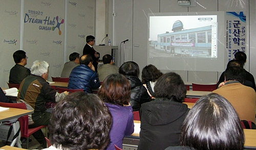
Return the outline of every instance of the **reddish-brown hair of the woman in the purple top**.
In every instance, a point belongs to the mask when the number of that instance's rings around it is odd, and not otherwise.
[[[131,96],[130,82],[122,74],[111,74],[102,82],[98,95],[105,103],[128,105]]]

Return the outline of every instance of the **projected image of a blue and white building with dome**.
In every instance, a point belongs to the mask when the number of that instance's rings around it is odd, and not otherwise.
[[[149,58],[217,58],[217,15],[150,16]]]

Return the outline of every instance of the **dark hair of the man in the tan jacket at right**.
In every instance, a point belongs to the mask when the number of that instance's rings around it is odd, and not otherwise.
[[[246,78],[246,72],[241,67],[227,67],[224,76],[226,81],[236,80],[243,84]]]

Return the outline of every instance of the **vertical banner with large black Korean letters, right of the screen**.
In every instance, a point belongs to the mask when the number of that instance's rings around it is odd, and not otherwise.
[[[246,16],[244,12],[226,12],[226,50],[228,61],[237,52],[246,53]]]

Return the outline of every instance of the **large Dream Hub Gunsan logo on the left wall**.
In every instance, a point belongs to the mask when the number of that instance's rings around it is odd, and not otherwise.
[[[47,26],[39,26],[38,29],[39,30],[45,30],[45,31],[54,31],[56,28],[58,28],[59,32],[58,34],[61,35],[61,31],[60,31],[60,24],[64,23],[64,19],[61,19],[61,21],[58,21],[58,16],[53,17],[53,19],[51,20],[50,17],[46,16],[45,19],[37,19],[37,18],[32,18],[30,17],[27,13],[25,14],[25,18],[24,18],[24,23],[35,23],[35,24],[44,24]],[[56,21],[55,21],[56,20]],[[55,23],[57,22],[56,26],[54,27]],[[49,26],[53,26],[53,27],[49,27]]]

